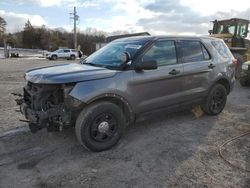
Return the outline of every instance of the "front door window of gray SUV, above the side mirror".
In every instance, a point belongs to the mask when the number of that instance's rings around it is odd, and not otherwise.
[[[158,65],[177,63],[174,41],[156,41],[144,54],[143,61],[155,60]]]

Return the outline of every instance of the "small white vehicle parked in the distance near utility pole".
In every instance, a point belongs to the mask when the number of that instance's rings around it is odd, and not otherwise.
[[[78,57],[78,52],[75,49],[58,49],[47,54],[47,59],[57,60],[58,58],[65,58],[68,60],[75,60]]]

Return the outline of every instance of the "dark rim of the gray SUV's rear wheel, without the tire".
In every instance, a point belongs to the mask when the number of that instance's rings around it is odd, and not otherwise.
[[[222,91],[216,90],[213,94],[211,101],[211,110],[213,112],[219,112],[223,109],[225,104],[225,95]]]

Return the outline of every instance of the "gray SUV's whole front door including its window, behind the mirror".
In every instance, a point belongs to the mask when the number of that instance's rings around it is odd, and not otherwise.
[[[134,72],[129,89],[134,93],[137,113],[178,105],[182,98],[183,66],[177,60],[175,41],[157,40],[139,59],[155,60],[158,68]]]

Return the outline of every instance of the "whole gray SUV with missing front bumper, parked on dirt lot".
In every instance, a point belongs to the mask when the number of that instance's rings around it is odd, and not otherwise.
[[[220,39],[130,37],[79,64],[33,69],[18,103],[31,132],[75,126],[92,151],[114,146],[126,125],[153,112],[200,105],[219,114],[233,89],[234,58]]]

